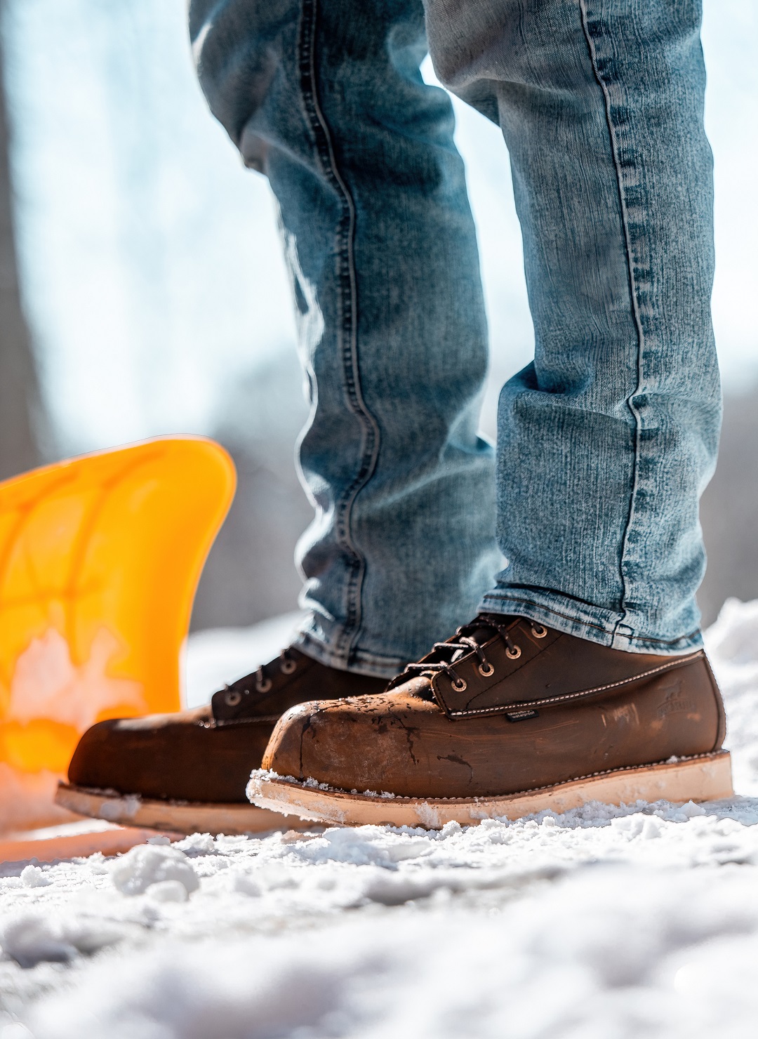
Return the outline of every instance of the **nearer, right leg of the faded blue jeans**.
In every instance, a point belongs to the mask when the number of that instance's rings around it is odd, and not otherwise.
[[[485,596],[602,645],[700,644],[721,392],[700,0],[427,0],[440,79],[499,123],[534,364],[503,389]]]

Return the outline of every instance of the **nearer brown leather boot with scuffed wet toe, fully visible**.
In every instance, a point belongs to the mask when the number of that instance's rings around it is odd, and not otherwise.
[[[431,828],[591,800],[707,800],[732,793],[724,735],[701,649],[622,652],[488,614],[383,693],[288,711],[247,793],[312,820]]]

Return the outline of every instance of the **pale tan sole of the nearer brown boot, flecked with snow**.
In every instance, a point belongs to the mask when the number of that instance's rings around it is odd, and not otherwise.
[[[658,765],[617,769],[521,794],[477,799],[373,797],[324,791],[253,772],[247,796],[262,808],[297,812],[302,819],[343,826],[476,825],[483,819],[520,819],[538,811],[568,811],[588,801],[634,804],[635,801],[715,801],[732,797],[728,751],[679,758]]]

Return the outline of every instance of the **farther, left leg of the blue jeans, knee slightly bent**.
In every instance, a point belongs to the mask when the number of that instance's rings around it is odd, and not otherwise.
[[[422,0],[192,0],[190,34],[211,109],[281,214],[317,511],[301,646],[390,676],[502,565],[476,235],[450,101],[418,71]]]

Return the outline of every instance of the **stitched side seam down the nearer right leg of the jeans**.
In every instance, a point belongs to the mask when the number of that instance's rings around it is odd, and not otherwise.
[[[637,387],[634,392],[630,394],[626,399],[626,405],[629,408],[633,419],[634,419],[634,468],[631,483],[631,496],[629,501],[629,512],[626,520],[626,527],[624,528],[624,537],[621,548],[621,559],[619,560],[619,577],[622,583],[622,601],[621,610],[623,611],[622,616],[616,622],[614,631],[611,633],[614,637],[618,634],[618,629],[620,624],[624,622],[628,615],[627,603],[629,601],[630,589],[629,582],[627,579],[626,570],[624,567],[624,560],[627,556],[628,543],[629,543],[629,533],[633,526],[635,520],[635,501],[638,497],[638,490],[640,486],[640,456],[642,451],[642,417],[634,404],[634,398],[641,393],[643,389],[643,351],[645,345],[645,330],[643,328],[642,317],[640,315],[640,302],[638,298],[638,286],[637,278],[634,276],[634,264],[631,248],[631,236],[629,233],[629,218],[628,211],[626,208],[626,196],[624,193],[624,183],[623,176],[621,172],[621,162],[619,159],[619,143],[616,135],[616,128],[614,126],[613,114],[612,114],[612,104],[611,104],[611,94],[605,85],[602,76],[600,75],[600,70],[597,63],[597,51],[595,49],[592,35],[590,33],[589,27],[589,15],[587,10],[587,0],[579,0],[579,10],[581,12],[581,29],[585,34],[585,39],[587,41],[587,47],[590,53],[590,62],[592,64],[592,72],[595,77],[597,85],[602,91],[604,106],[605,106],[605,125],[608,131],[608,139],[611,142],[611,154],[614,160],[614,169],[616,170],[616,185],[619,192],[619,206],[621,208],[621,227],[624,235],[624,250],[626,252],[626,265],[627,273],[629,278],[629,296],[631,299],[631,313],[632,319],[634,321],[634,328],[637,330]],[[633,637],[633,636],[632,636]]]

